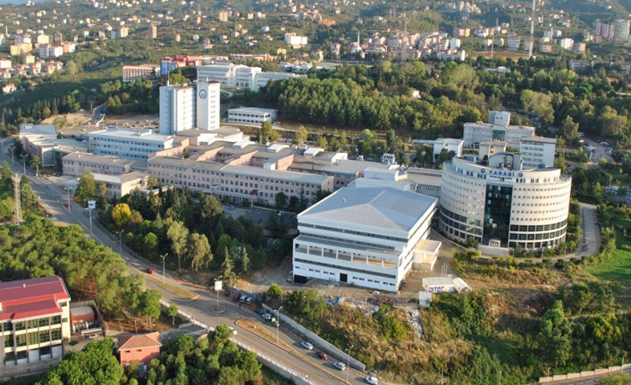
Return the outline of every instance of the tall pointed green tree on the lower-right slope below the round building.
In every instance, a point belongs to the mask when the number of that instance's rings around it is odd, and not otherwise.
[[[572,327],[565,318],[563,302],[557,300],[542,317],[538,340],[543,361],[553,367],[567,364],[572,356],[571,335]]]

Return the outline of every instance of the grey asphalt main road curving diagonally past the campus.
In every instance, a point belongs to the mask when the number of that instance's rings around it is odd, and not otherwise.
[[[4,148],[4,143],[2,144]],[[22,172],[22,165],[17,160],[12,162],[11,156],[6,155],[6,151],[2,151],[0,160],[7,160],[11,165],[13,172]],[[87,236],[97,240],[107,247],[111,247],[113,250],[119,250],[119,241],[115,239],[109,233],[105,233],[96,224],[92,226],[93,233],[90,235],[89,217],[87,210],[78,205],[71,199],[71,209],[68,210],[64,204],[66,203],[66,192],[63,188],[55,186],[49,180],[45,178],[36,178],[32,172],[27,170],[29,180],[31,180],[32,188],[35,194],[39,197],[39,203],[46,207],[46,210],[53,215],[58,222],[75,223],[79,224],[86,232]],[[153,267],[156,272],[162,272],[162,266],[154,264],[148,264],[146,261],[142,261],[130,255],[127,250],[122,248],[122,257],[126,260],[130,267],[130,273],[144,274],[147,267]],[[158,275],[159,277],[159,275]],[[165,280],[168,283],[178,286],[186,286],[187,289],[196,292],[199,297],[194,300],[182,300],[178,297],[174,297],[170,292],[156,286],[154,283],[147,280],[147,287],[151,289],[159,289],[163,292],[164,299],[171,303],[175,303],[182,310],[192,314],[199,322],[204,322],[213,327],[220,324],[228,324],[234,327],[238,331],[238,335],[235,336],[240,342],[248,345],[258,354],[262,354],[268,358],[273,359],[276,362],[282,363],[284,366],[290,368],[292,371],[304,375],[308,381],[314,384],[337,384],[345,383],[344,379],[346,372],[340,372],[332,367],[332,361],[323,362],[315,357],[315,351],[307,351],[299,346],[300,339],[292,335],[286,328],[281,327],[280,339],[285,343],[295,347],[295,352],[285,351],[282,347],[277,346],[272,342],[268,342],[265,339],[252,334],[249,331],[241,329],[234,324],[238,319],[249,318],[255,322],[258,322],[261,327],[269,329],[269,331],[275,334],[275,328],[270,324],[262,322],[261,318],[252,311],[246,309],[240,309],[238,304],[227,301],[223,296],[219,296],[220,302],[225,306],[226,310],[223,314],[215,314],[211,312],[211,305],[215,304],[216,296],[214,292],[206,289],[197,289],[192,286],[185,285],[181,280],[173,278],[171,273],[166,275]],[[296,353],[298,352],[298,354]],[[366,383],[364,378],[365,373],[351,371],[349,376],[349,383],[360,384]]]

